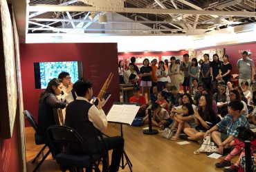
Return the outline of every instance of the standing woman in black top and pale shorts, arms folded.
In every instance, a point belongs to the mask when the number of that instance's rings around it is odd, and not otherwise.
[[[152,86],[152,67],[149,66],[149,59],[145,58],[143,61],[143,67],[140,67],[141,81],[140,86],[143,89],[143,96],[147,92],[147,100],[150,98],[150,87]]]

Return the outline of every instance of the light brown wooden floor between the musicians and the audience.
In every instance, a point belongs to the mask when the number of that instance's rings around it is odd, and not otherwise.
[[[194,155],[199,149],[197,142],[179,145],[176,142],[183,140],[165,140],[161,133],[154,136],[143,134],[143,127],[123,126],[125,138],[125,151],[133,164],[134,172],[156,172],[156,171],[223,171],[215,169],[214,164],[219,160],[208,158],[205,154]],[[107,132],[109,136],[119,135],[120,125],[110,124]],[[26,158],[28,172],[35,167],[31,160],[42,147],[35,145],[34,131],[32,127],[26,128]],[[38,171],[60,171],[51,155],[42,164]],[[122,172],[129,172],[128,166],[120,169]]]

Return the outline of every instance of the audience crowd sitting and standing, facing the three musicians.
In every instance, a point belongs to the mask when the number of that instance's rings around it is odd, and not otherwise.
[[[129,102],[140,104],[137,117],[143,118],[144,124],[152,111],[152,125],[161,130],[169,128],[170,140],[202,144],[203,138],[210,136],[220,154],[234,145],[225,160],[215,166],[230,166],[224,171],[239,171],[244,168],[242,142],[250,140],[256,150],[256,135],[250,130],[256,125],[256,92],[251,87],[255,65],[248,52],[242,52],[241,56],[236,66],[239,85],[231,81],[232,64],[227,54],[222,61],[218,54],[213,55],[213,61],[209,60],[209,54],[204,54],[204,60],[199,62],[196,58],[190,61],[188,54],[183,55],[182,62],[174,56],[170,63],[156,59],[149,63],[145,58],[140,69],[135,64],[136,58],[131,57],[131,63],[127,59],[125,63],[119,62],[120,83],[134,87]],[[230,160],[236,155],[241,157],[231,165]]]

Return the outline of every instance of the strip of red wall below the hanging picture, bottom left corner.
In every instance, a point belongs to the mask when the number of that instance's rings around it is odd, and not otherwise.
[[[16,118],[17,119],[17,118]],[[0,171],[19,171],[19,153],[17,138],[17,122],[15,122],[12,138],[0,139]]]

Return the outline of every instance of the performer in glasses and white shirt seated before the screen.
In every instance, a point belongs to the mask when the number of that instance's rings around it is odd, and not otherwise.
[[[62,80],[63,84],[62,95],[59,96],[59,98],[66,103],[73,102],[76,95],[75,91],[73,90],[73,83],[71,83],[71,76],[68,74],[68,72],[61,72],[58,78]]]

